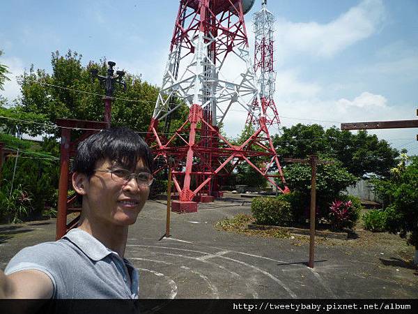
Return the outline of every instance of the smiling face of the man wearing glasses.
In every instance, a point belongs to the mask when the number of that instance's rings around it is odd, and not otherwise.
[[[86,195],[83,197],[88,207],[90,220],[100,220],[102,223],[112,225],[132,225],[137,220],[139,211],[144,207],[150,187],[138,184],[136,179],[130,179],[125,184],[115,181],[115,177],[106,170],[121,169],[123,167],[111,163],[109,160],[100,160],[95,167],[96,171],[88,179]],[[139,160],[135,169],[130,172],[149,172],[144,160]]]

